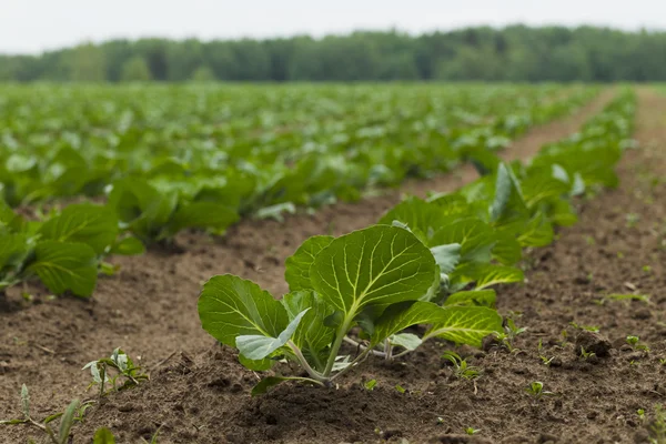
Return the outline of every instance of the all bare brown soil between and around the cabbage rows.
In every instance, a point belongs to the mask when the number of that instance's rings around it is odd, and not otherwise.
[[[535,129],[506,155],[528,157],[541,143],[572,133],[608,98],[605,93],[581,113]],[[666,175],[666,161],[652,143],[666,137],[666,100],[642,92],[639,110],[637,138],[645,148],[624,159],[622,189],[584,202],[577,225],[553,246],[529,254],[528,283],[500,291],[501,312],[521,312],[516,322],[528,327],[515,342],[521,352],[461,350],[483,371],[475,383],[453,377],[440,359],[445,345],[433,343],[400,363],[370,361],[337,390],[287,385],[252,398],[256,376],[200,326],[195,304],[202,281],[234,273],[280,295],[286,290],[282,263],[304,239],[375,222],[400,200],[395,191],[283,224],[245,221],[224,239],[185,234],[178,240],[183,254],[151,251],[114,259],[121,272],[102,279],[91,301],[49,301],[43,290],[31,287],[39,299],[28,304],[14,289],[8,306],[0,307],[0,417],[19,415],[22,383],[31,389],[37,416],[61,411],[72,397],[92,397],[81,367],[122,346],[151,373],[151,382],[90,408],[74,430],[75,443],[90,442],[99,426],[110,426],[120,443],[150,437],[160,426],[160,443],[645,442],[636,410],[649,413],[666,395],[658,360],[666,357],[666,327],[659,323],[666,302],[666,184],[653,180]],[[465,169],[401,191],[445,191],[474,176]],[[640,215],[636,226],[626,226],[627,213]],[[644,265],[652,266],[649,273]],[[594,303],[630,292],[627,286],[652,294],[652,303]],[[610,356],[576,357],[572,321],[598,325],[615,344]],[[564,345],[563,330],[568,331]],[[639,335],[652,352],[622,350],[627,334]],[[543,353],[555,357],[549,367],[538,357],[539,339]],[[362,386],[369,377],[379,381],[372,392]],[[524,387],[533,381],[543,381],[555,395],[529,397]],[[482,432],[461,435],[467,426]],[[21,426],[0,428],[0,443],[28,436],[39,435]]]

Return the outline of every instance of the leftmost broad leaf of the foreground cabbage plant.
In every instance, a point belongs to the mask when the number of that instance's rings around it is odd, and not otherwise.
[[[269,292],[232,274],[211,278],[198,309],[203,330],[230,346],[240,335],[276,337],[289,324],[286,311]]]

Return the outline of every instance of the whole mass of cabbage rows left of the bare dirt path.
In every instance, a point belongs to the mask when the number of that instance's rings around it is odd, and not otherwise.
[[[60,115],[51,107],[62,104],[68,95],[53,92],[47,93],[40,108],[0,107],[7,123],[0,150],[0,196],[4,198],[0,199],[0,293],[39,278],[56,294],[70,291],[89,296],[100,272],[114,272],[104,262],[111,254],[141,254],[144,245],[169,243],[188,228],[221,234],[241,215],[280,218],[295,205],[352,200],[366,186],[397,184],[405,175],[448,169],[463,158],[502,148],[508,137],[571,111],[597,90],[396,88],[386,98],[370,87],[276,89],[273,92],[280,100],[290,99],[286,94],[294,94],[290,100],[295,100],[312,93],[321,104],[332,95],[332,109],[323,113],[327,119],[345,110],[342,107],[354,95],[379,109],[363,118],[355,111],[341,123],[324,120],[321,127],[307,117],[305,122],[317,127],[281,133],[285,115],[275,110],[275,98],[249,89],[254,103],[266,104],[263,119],[274,121],[261,137],[249,131],[258,122],[244,113],[244,119],[228,119],[223,130],[182,115],[173,121],[160,114],[159,105],[171,105],[170,100],[190,107],[179,95],[186,90],[170,95],[160,89],[165,98],[143,108],[123,102],[128,98],[109,102],[115,111],[131,105],[120,117],[111,117],[100,105],[79,109],[77,101]],[[427,91],[436,100],[424,100],[422,107],[418,100]],[[97,89],[89,92],[100,93]],[[413,102],[401,107],[407,99]],[[451,103],[444,102],[448,99]],[[204,109],[195,115],[201,120],[214,117]],[[401,112],[395,117],[389,109]],[[26,119],[30,115],[34,119]],[[78,132],[72,132],[72,119],[83,122],[77,123]],[[164,127],[164,122],[172,123]],[[193,137],[182,150],[182,138],[189,134]],[[213,141],[222,135],[235,142],[218,149]],[[104,205],[71,204],[30,220],[11,208],[98,192],[103,192]]]

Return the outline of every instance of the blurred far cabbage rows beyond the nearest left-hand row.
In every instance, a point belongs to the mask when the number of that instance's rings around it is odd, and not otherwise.
[[[144,179],[246,213],[353,199],[506,143],[596,87],[29,87],[0,100],[0,195],[11,205]],[[397,110],[397,112],[396,112]]]

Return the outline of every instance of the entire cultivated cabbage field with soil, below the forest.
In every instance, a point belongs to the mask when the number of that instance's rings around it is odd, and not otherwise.
[[[0,128],[1,443],[666,442],[656,90],[12,85]]]

